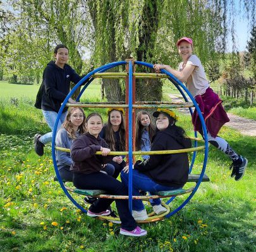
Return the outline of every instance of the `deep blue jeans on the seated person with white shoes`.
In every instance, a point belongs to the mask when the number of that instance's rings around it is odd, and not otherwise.
[[[128,187],[128,178],[129,178],[129,173],[124,173],[122,171],[121,180],[126,187]],[[150,195],[154,195],[154,192],[169,191],[177,188],[174,188],[172,186],[164,186],[164,185],[157,184],[154,180],[149,178],[149,176],[143,173],[140,173],[140,171],[138,171],[137,169],[133,169],[133,188],[132,189],[133,189],[133,195],[140,196],[139,190],[150,192]],[[149,201],[152,206],[161,204],[160,198],[155,198],[153,200],[150,199]],[[144,209],[144,205],[142,203],[142,200],[133,200],[133,210],[140,211],[143,209]]]

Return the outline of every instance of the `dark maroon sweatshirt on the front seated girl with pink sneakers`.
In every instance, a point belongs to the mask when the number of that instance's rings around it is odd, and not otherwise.
[[[97,139],[94,135],[86,133],[76,139],[71,145],[71,159],[73,164],[70,170],[75,173],[95,173],[102,170],[102,165],[109,163],[113,156],[96,155],[96,151],[101,151],[101,146],[108,148],[107,143],[100,136]]]

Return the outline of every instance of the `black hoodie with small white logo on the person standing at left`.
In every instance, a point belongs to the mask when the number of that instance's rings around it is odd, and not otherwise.
[[[70,93],[70,82],[72,81],[76,84],[80,79],[82,77],[76,74],[75,70],[68,64],[65,64],[62,69],[54,61],[49,62],[43,74],[42,110],[58,113],[61,103]],[[64,108],[63,112],[66,112],[66,110],[68,108]]]

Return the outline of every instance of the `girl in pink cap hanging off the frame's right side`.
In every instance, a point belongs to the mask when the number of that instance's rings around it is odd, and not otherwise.
[[[233,164],[231,164],[230,169],[233,167],[233,170],[231,177],[235,176],[235,180],[238,181],[243,177],[248,161],[245,157],[242,157],[233,151],[228,142],[217,135],[222,125],[229,122],[228,115],[221,105],[222,101],[210,88],[209,81],[207,80],[200,59],[198,59],[197,55],[192,54],[192,39],[187,37],[180,38],[176,45],[178,47],[178,52],[183,59],[179,65],[178,71],[167,65],[155,64],[155,72],[165,69],[166,71],[171,72],[171,74],[181,82],[186,82],[188,90],[197,101],[204,117],[208,141],[232,159]],[[194,129],[203,135],[202,125],[197,110],[195,110],[192,115],[192,123]]]

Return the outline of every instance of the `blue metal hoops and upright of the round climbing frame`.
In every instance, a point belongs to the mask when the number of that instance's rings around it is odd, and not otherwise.
[[[68,190],[66,190],[66,187],[61,179],[61,176],[59,175],[59,171],[58,171],[58,166],[56,163],[56,153],[55,153],[55,139],[56,139],[56,133],[57,133],[57,127],[58,127],[58,122],[60,120],[61,114],[64,110],[64,107],[66,106],[66,103],[68,103],[68,99],[73,95],[73,93],[75,93],[76,89],[81,86],[83,83],[85,83],[85,81],[87,81],[87,83],[85,84],[85,86],[82,88],[82,90],[80,91],[80,94],[78,95],[78,97],[76,98],[76,101],[80,100],[80,97],[82,96],[83,92],[85,91],[85,89],[88,87],[88,85],[90,83],[92,83],[92,81],[94,80],[94,74],[96,73],[102,73],[105,72],[113,67],[116,66],[121,66],[124,64],[128,64],[128,87],[129,87],[129,93],[128,93],[128,130],[129,130],[129,146],[128,146],[128,163],[129,163],[129,207],[130,210],[132,209],[132,163],[133,163],[133,154],[132,154],[132,138],[133,138],[133,132],[132,132],[132,98],[133,98],[133,86],[132,86],[132,82],[133,82],[133,63],[132,60],[128,60],[127,61],[119,61],[119,62],[112,62],[110,64],[106,64],[105,66],[101,66],[98,67],[97,69],[94,69],[94,71],[89,72],[85,77],[83,77],[75,86],[73,89],[71,89],[70,93],[66,96],[66,98],[63,101],[63,104],[61,105],[61,108],[59,109],[58,112],[58,116],[56,118],[56,123],[54,125],[54,130],[52,132],[52,161],[54,164],[54,169],[56,172],[56,176],[58,178],[59,184],[61,185],[61,188],[63,189],[63,192],[66,194],[66,196],[71,200],[71,202],[78,207],[78,209],[82,210],[82,212],[87,213],[87,210],[85,210],[79,203],[76,202],[76,200],[70,195],[70,193],[68,192]],[[149,67],[149,68],[153,68],[152,64],[149,64],[147,62],[141,62],[141,61],[134,61],[134,64],[137,65],[141,65],[141,66],[145,66],[145,67]],[[207,157],[208,157],[208,139],[207,139],[207,129],[205,127],[205,122],[204,122],[204,117],[202,116],[202,113],[200,112],[200,108],[197,105],[197,102],[195,101],[195,99],[193,98],[193,96],[191,95],[191,93],[188,91],[188,89],[186,88],[186,86],[181,83],[181,81],[179,81],[176,77],[173,76],[173,74],[171,74],[170,72],[162,69],[161,70],[162,74],[166,74],[168,76],[169,81],[171,81],[171,83],[174,84],[174,86],[176,86],[176,88],[178,89],[178,91],[180,91],[181,95],[183,96],[184,100],[186,102],[188,102],[188,99],[186,98],[186,95],[189,96],[189,98],[192,100],[193,105],[195,106],[195,109],[197,110],[198,113],[198,117],[200,118],[200,122],[202,124],[202,130],[204,133],[204,139],[205,139],[205,151],[204,151],[204,163],[202,166],[202,171],[200,173],[200,176],[198,178],[197,184],[195,185],[195,188],[193,189],[192,193],[190,193],[190,195],[188,195],[188,197],[183,201],[183,203],[180,204],[179,207],[177,207],[176,209],[174,209],[172,212],[169,212],[168,215],[166,215],[165,217],[171,217],[173,214],[175,214],[176,212],[178,212],[179,210],[181,210],[183,207],[185,207],[185,205],[190,201],[190,199],[193,197],[193,195],[195,194],[195,192],[197,192],[198,187],[200,186],[200,183],[202,182],[204,173],[205,173],[205,168],[207,165]],[[185,91],[183,91],[183,90]],[[186,95],[185,95],[186,93]],[[190,114],[192,115],[192,108],[189,108],[190,110]],[[197,132],[195,132],[195,137],[197,137]],[[195,140],[195,147],[197,147],[197,140]],[[193,152],[193,157],[192,157],[192,161],[190,164],[190,169],[189,169],[189,173],[192,172],[193,169],[193,164],[195,162],[195,157],[196,157],[197,152],[194,151]],[[169,204],[170,202],[172,202],[174,200],[175,197],[171,197],[168,202],[166,202],[167,204]]]

